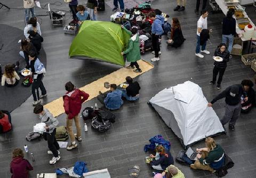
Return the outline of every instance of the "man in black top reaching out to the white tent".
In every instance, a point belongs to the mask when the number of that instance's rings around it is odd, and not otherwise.
[[[208,107],[212,107],[213,103],[219,99],[225,98],[226,112],[223,118],[220,120],[222,126],[229,122],[229,128],[231,131],[235,130],[236,120],[241,113],[241,96],[244,95],[244,100],[247,101],[247,95],[244,92],[244,87],[240,84],[231,85],[226,88],[225,91],[218,94],[210,103]]]

